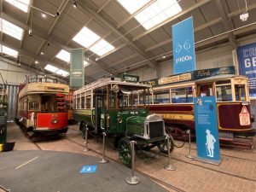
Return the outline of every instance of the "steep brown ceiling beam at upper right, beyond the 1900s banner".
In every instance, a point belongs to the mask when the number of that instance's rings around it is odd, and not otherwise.
[[[233,27],[230,26],[228,16],[226,15],[226,13],[224,11],[223,4],[221,3],[220,0],[215,0],[215,3],[217,4],[218,12],[221,16],[225,30],[230,31],[230,29],[233,29]],[[229,37],[231,46],[233,47],[233,49],[236,49],[236,40],[235,40],[235,36],[234,36],[233,32],[229,32],[228,37]]]

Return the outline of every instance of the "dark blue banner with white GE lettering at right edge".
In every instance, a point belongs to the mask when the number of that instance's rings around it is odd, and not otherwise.
[[[250,97],[256,98],[256,43],[247,44],[237,49],[239,72],[249,79]]]

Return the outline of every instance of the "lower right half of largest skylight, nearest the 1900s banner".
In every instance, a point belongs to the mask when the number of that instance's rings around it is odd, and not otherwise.
[[[137,14],[135,19],[148,30],[181,11],[182,9],[177,0],[157,0]]]

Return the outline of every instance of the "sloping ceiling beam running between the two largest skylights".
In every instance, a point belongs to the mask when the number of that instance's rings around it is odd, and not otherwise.
[[[100,22],[102,22],[102,24],[104,26],[108,26],[108,28],[114,32],[115,34],[117,34],[119,36],[119,38],[121,38],[125,44],[127,44],[127,46],[129,46],[133,51],[135,51],[138,55],[141,55],[145,60],[147,60],[147,64],[149,67],[151,67],[152,69],[156,70],[156,67],[154,66],[154,62],[148,60],[148,56],[145,55],[145,50],[140,49],[137,47],[136,44],[134,44],[133,42],[131,42],[131,40],[127,37],[125,37],[125,34],[123,32],[120,32],[116,26],[114,26],[114,24],[112,23],[112,21],[107,20],[105,18],[103,18],[103,16],[101,14],[98,14],[96,12],[96,10],[91,8],[91,5],[85,1],[80,1],[79,2],[80,7],[82,7],[82,9],[84,9],[84,11],[86,11],[88,14],[94,16],[96,18],[96,20],[99,20]]]

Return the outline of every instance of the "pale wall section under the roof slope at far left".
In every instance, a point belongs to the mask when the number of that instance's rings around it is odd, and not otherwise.
[[[26,80],[26,76],[32,75],[32,72],[22,69],[21,67],[14,66],[6,61],[0,61],[0,73],[4,81],[7,80],[8,84],[21,84]],[[3,80],[0,79],[0,83]]]

